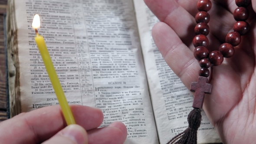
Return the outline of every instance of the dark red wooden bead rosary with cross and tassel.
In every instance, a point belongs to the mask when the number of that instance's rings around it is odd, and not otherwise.
[[[220,45],[218,50],[209,53],[207,46],[209,41],[207,35],[209,34],[210,15],[207,13],[212,3],[210,0],[199,0],[197,9],[199,12],[195,16],[197,25],[194,32],[196,36],[193,39],[194,57],[199,61],[201,69],[199,70],[199,77],[197,82],[192,82],[190,91],[195,92],[193,110],[188,115],[188,128],[182,133],[176,135],[167,144],[197,144],[197,129],[201,123],[201,109],[203,108],[203,100],[205,94],[211,94],[212,85],[207,83],[207,77],[210,75],[209,67],[211,65],[218,66],[223,62],[224,58],[230,58],[234,55],[234,46],[238,46],[241,42],[241,36],[249,31],[249,23],[246,20],[249,17],[249,11],[246,7],[249,6],[251,0],[235,0],[238,6],[233,12],[234,19],[237,21],[233,26],[233,32],[226,35],[225,42]]]

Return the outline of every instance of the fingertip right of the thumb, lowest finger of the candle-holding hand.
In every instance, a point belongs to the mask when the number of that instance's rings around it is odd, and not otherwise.
[[[88,131],[89,144],[123,144],[127,137],[125,124],[117,121],[105,128]]]

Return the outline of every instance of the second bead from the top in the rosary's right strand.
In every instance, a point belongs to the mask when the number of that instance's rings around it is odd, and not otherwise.
[[[249,17],[249,11],[245,7],[237,7],[233,16],[236,21],[246,21]]]

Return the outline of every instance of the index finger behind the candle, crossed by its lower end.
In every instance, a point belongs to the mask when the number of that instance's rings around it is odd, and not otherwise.
[[[99,109],[81,105],[70,105],[70,108],[76,123],[86,130],[97,128],[103,121]],[[59,105],[56,105],[20,114],[1,122],[0,127],[0,140],[4,144],[33,144],[49,139],[65,128],[66,122]]]

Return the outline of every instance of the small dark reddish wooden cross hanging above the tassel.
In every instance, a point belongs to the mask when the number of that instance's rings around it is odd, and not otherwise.
[[[198,77],[197,82],[192,82],[190,86],[191,92],[196,92],[194,96],[193,108],[203,108],[203,100],[205,94],[212,93],[212,85],[208,84],[208,79],[203,76]]]

